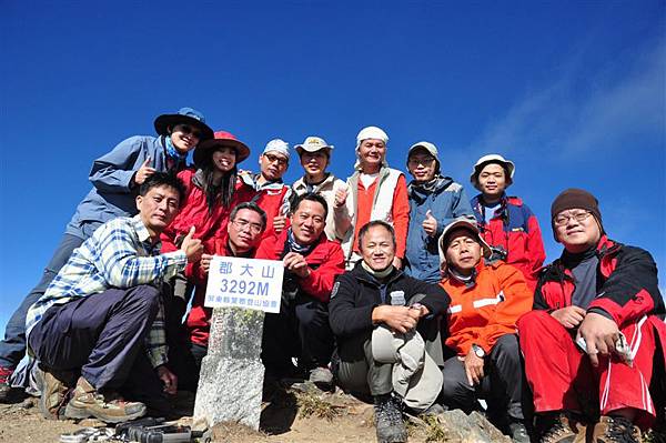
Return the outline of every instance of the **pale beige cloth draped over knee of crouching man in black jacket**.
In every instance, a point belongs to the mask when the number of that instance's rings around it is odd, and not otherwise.
[[[384,325],[375,328],[372,356],[380,363],[393,364],[393,390],[407,406],[425,411],[437,400],[444,376],[425,351],[418,332],[401,334]]]

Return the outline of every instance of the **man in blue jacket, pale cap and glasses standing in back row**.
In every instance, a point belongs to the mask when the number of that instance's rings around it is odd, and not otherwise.
[[[407,185],[410,229],[405,273],[438,283],[442,278],[437,239],[454,219],[467,215],[474,220],[474,213],[463,187],[451,177],[441,175],[440,157],[433,143],[422,141],[412,145],[407,169],[414,180]]]

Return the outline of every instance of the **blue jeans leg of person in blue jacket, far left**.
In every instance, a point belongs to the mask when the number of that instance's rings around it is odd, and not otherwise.
[[[23,302],[7,322],[4,340],[0,342],[0,366],[13,370],[26,355],[26,314],[28,314],[30,306],[47,292],[47,288],[58,275],[58,271],[64,266],[74,249],[79,248],[81,243],[83,243],[83,240],[75,235],[64,234],[62,236],[51,261],[44,269],[41,280],[23,299]]]

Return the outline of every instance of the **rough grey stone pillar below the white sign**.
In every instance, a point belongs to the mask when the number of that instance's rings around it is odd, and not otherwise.
[[[261,338],[264,313],[216,308],[211,319],[208,355],[201,364],[194,420],[210,426],[242,423],[259,430],[264,366]]]

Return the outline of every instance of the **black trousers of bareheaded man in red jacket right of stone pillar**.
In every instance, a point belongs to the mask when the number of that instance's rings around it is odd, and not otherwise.
[[[299,360],[299,368],[325,366],[333,353],[329,305],[304,294],[282,301],[279,314],[264,319],[261,360],[266,371],[280,371]]]

